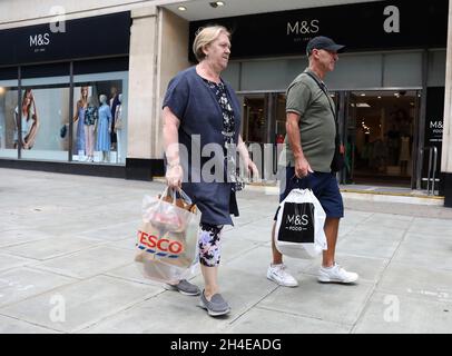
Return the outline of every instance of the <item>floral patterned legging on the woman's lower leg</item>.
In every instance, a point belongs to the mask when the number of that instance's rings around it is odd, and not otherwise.
[[[206,267],[219,265],[219,249],[223,225],[202,222],[199,231],[199,263]]]

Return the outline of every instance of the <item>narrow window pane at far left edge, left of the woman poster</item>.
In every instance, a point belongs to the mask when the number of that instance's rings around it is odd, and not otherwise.
[[[0,81],[0,157],[17,158],[14,108],[18,101],[17,80]]]

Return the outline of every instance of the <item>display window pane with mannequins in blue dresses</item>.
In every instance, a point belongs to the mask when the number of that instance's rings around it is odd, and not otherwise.
[[[124,165],[127,72],[75,77],[72,160]]]

